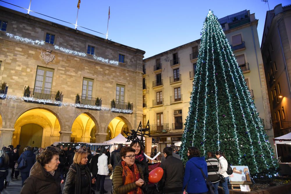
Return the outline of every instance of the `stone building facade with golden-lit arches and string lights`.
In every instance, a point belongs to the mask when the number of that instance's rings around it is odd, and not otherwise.
[[[1,147],[138,127],[144,51],[4,7],[0,22]]]

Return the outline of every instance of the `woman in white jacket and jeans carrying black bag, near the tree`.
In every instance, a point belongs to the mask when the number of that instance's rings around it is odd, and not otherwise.
[[[227,165],[228,165],[227,160],[226,160],[223,152],[216,151],[215,156],[219,161],[218,172],[219,172],[219,174],[221,174],[224,177],[224,183],[222,183],[222,188],[223,188],[225,194],[229,194],[228,186],[227,186],[229,175],[226,173]]]

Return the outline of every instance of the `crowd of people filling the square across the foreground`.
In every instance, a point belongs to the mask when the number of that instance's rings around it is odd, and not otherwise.
[[[0,150],[0,194],[10,181],[22,180],[21,194],[100,194],[104,189],[105,177],[112,174],[113,193],[122,194],[181,194],[183,191],[206,194],[208,186],[205,176],[212,182],[214,193],[218,193],[221,183],[228,194],[228,162],[225,155],[217,151],[208,152],[205,161],[196,147],[188,148],[186,165],[175,153],[171,145],[163,149],[160,167],[162,178],[156,183],[149,182],[149,161],[145,157],[143,145],[134,140],[130,146],[118,144],[113,152],[105,147],[93,154],[90,147],[43,148],[27,146],[19,156],[20,145],[12,145]],[[222,180],[223,179],[223,180]],[[61,184],[64,184],[63,191]]]

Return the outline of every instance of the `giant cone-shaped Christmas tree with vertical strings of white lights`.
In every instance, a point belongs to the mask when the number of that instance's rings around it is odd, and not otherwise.
[[[197,67],[180,154],[224,152],[232,165],[246,165],[253,177],[272,176],[278,167],[244,75],[217,17],[209,11],[201,34]]]

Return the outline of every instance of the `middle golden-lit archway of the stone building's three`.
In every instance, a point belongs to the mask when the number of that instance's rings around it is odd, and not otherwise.
[[[72,142],[95,143],[96,125],[92,115],[80,114],[72,124]]]

